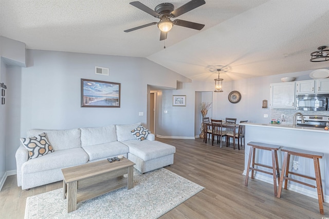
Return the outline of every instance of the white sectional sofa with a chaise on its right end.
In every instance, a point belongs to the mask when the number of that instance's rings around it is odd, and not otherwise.
[[[176,148],[155,141],[149,134],[138,140],[131,133],[140,123],[82,127],[71,130],[29,130],[27,137],[46,133],[54,152],[29,159],[28,150],[20,145],[16,151],[17,186],[30,189],[63,180],[61,169],[108,157],[123,155],[136,163],[141,173],[174,163]]]

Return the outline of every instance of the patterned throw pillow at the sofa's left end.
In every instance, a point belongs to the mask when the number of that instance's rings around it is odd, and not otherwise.
[[[20,138],[24,147],[29,151],[30,159],[41,157],[45,154],[53,152],[46,133],[31,138]]]

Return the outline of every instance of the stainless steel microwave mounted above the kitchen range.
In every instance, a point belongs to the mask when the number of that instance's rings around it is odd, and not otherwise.
[[[329,94],[297,95],[296,109],[301,111],[326,111]]]

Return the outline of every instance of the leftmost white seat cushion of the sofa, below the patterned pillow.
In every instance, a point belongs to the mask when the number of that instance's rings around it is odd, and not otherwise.
[[[36,173],[82,165],[88,161],[88,158],[87,153],[82,148],[54,151],[47,156],[30,159],[23,163],[22,173]]]

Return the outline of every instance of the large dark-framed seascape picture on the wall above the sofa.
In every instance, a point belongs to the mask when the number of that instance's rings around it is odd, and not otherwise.
[[[81,79],[81,107],[120,107],[121,84]]]

